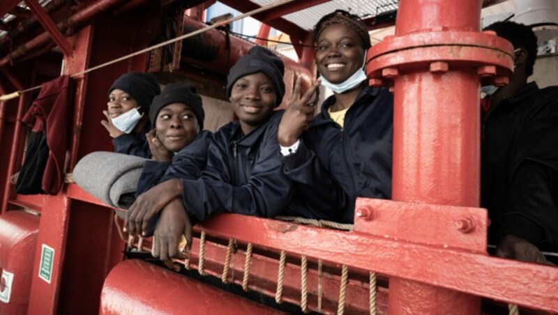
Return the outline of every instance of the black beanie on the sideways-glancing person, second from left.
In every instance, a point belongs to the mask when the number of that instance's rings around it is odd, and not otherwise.
[[[157,120],[157,115],[163,107],[172,103],[182,103],[188,105],[197,118],[197,123],[199,125],[199,130],[204,129],[204,107],[202,107],[202,97],[196,93],[195,86],[191,86],[186,83],[171,83],[165,86],[163,93],[160,93],[155,98],[153,98],[153,103],[151,104],[151,109],[149,109],[149,120],[151,125],[155,128],[155,121]]]

